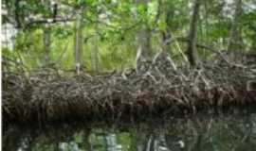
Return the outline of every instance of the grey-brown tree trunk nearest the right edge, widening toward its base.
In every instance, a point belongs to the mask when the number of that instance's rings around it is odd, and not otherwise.
[[[234,3],[235,3],[235,12],[234,12],[234,18],[233,18],[232,26],[230,30],[230,38],[229,38],[229,45],[228,45],[228,51],[229,52],[232,51],[233,53],[235,51],[238,51],[239,49],[242,49],[242,39],[239,31],[239,21],[242,15],[242,0],[235,0]],[[233,55],[231,56],[231,59],[234,59]]]

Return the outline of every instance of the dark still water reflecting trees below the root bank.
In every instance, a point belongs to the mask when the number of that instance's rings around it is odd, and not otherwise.
[[[200,115],[113,126],[11,126],[3,131],[7,151],[252,151],[256,114]]]

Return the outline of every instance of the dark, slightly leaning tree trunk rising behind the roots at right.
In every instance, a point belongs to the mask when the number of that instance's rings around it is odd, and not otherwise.
[[[187,48],[187,54],[192,66],[197,64],[197,52],[196,52],[196,38],[197,38],[197,23],[199,19],[199,11],[201,6],[201,0],[195,0],[192,10],[192,20],[190,25],[189,42]]]

